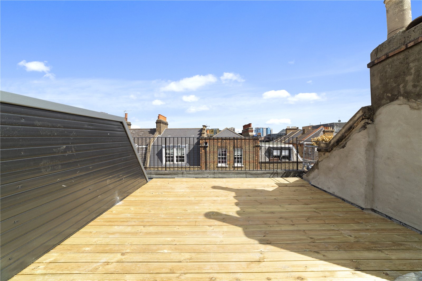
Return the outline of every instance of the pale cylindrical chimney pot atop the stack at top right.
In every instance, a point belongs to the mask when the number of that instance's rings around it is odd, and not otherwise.
[[[384,0],[387,12],[387,39],[412,21],[410,0]]]

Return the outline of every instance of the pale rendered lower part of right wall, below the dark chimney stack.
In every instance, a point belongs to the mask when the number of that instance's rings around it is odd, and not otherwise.
[[[400,97],[319,152],[304,179],[422,230],[422,104]]]

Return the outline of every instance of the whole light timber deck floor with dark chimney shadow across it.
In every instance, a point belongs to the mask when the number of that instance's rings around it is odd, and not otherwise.
[[[394,280],[421,238],[299,178],[153,179],[11,280]]]

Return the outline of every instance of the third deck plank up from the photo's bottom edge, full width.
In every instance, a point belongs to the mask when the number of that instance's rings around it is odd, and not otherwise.
[[[271,261],[298,261],[324,259],[325,261],[350,259],[419,259],[422,260],[422,251],[298,251],[287,250],[273,252],[211,252],[211,253],[172,253],[172,252],[127,252],[127,253],[57,253],[49,252],[38,259],[36,263],[57,262],[271,262]]]

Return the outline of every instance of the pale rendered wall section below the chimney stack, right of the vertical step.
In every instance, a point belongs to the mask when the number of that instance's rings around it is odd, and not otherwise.
[[[400,98],[374,124],[372,208],[422,230],[422,104]]]

